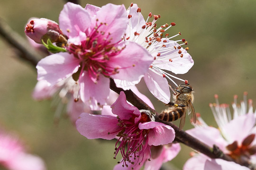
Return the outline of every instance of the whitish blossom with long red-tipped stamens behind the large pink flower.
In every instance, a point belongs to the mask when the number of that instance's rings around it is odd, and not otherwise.
[[[190,68],[192,68],[194,61],[189,53],[187,53],[188,47],[183,49],[182,45],[186,45],[185,39],[174,41],[174,37],[180,35],[169,36],[166,31],[175,26],[175,23],[171,23],[170,26],[165,24],[156,27],[156,21],[160,18],[159,15],[152,15],[149,13],[147,20],[145,21],[141,9],[137,4],[131,4],[127,10],[129,23],[126,30],[125,40],[129,42],[137,42],[144,47],[154,58],[153,63],[144,76],[145,83],[149,91],[160,101],[164,103],[170,102],[170,89],[167,79],[172,81],[174,85],[177,84],[172,78],[176,78],[184,82],[184,80],[169,74],[167,71],[171,71],[174,74],[184,74]],[[153,17],[153,21],[148,21]],[[182,42],[179,44],[178,42]],[[167,70],[167,71],[165,71]],[[137,84],[137,82],[126,82],[125,80],[116,80],[117,86],[123,89],[129,89],[131,85]]]

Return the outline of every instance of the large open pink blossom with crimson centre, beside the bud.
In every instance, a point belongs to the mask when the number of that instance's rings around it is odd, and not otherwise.
[[[110,93],[110,79],[139,81],[153,61],[151,55],[135,42],[123,42],[128,18],[123,5],[107,4],[85,9],[66,3],[59,16],[59,26],[68,37],[68,52],[60,52],[37,64],[37,79],[55,85],[73,76],[80,86],[83,102],[105,104]]]

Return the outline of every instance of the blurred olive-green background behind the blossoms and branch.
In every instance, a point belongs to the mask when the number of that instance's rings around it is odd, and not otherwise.
[[[127,0],[81,0],[103,6],[124,4]],[[170,35],[179,31],[189,44],[194,66],[185,75],[194,87],[194,107],[212,126],[209,102],[219,94],[220,102],[231,103],[233,95],[242,100],[244,91],[256,100],[256,1],[255,0],[134,0],[146,17],[160,14],[160,26],[175,22]],[[146,3],[145,3],[146,2]],[[25,38],[24,27],[30,17],[45,17],[58,22],[64,0],[0,0],[0,16]],[[0,38],[0,126],[18,134],[29,151],[41,156],[48,170],[109,170],[113,160],[114,142],[88,140],[81,136],[69,119],[54,124],[50,101],[36,102],[31,93],[37,83],[35,68],[17,59],[15,50]],[[178,84],[180,82],[176,81]],[[144,90],[144,88],[140,89]],[[145,91],[144,91],[145,92]],[[158,112],[165,106],[148,94]],[[175,122],[178,124],[179,122]],[[192,128],[187,119],[184,129]],[[171,162],[173,170],[182,169],[192,150],[182,151]]]

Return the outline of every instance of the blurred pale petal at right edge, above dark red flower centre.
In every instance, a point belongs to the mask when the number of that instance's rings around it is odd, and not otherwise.
[[[256,119],[253,113],[248,113],[231,120],[223,128],[226,130],[225,137],[229,143],[238,141],[241,143],[245,137],[250,135],[251,129],[255,126]]]

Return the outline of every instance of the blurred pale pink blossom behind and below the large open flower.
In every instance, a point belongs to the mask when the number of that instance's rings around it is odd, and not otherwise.
[[[48,86],[45,80],[38,81],[32,96],[35,100],[53,99],[53,105],[56,107],[56,121],[58,121],[62,112],[66,112],[73,123],[82,112],[99,113],[99,111],[91,110],[90,103],[84,103],[79,100],[79,85],[72,77],[66,78],[53,86]],[[113,104],[117,98],[118,94],[110,91],[107,104]],[[97,110],[101,109],[102,106],[98,105]]]

